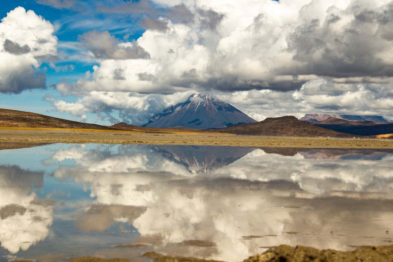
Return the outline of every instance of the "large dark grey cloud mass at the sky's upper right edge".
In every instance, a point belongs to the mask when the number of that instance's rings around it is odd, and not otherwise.
[[[392,64],[380,55],[393,44],[391,18],[386,16],[392,13],[391,9],[389,5],[379,11],[347,10],[354,13],[354,18],[342,31],[331,26],[341,19],[338,14],[328,15],[324,21],[304,22],[286,39],[294,60],[303,66],[284,68],[283,73],[322,77],[393,76]]]

